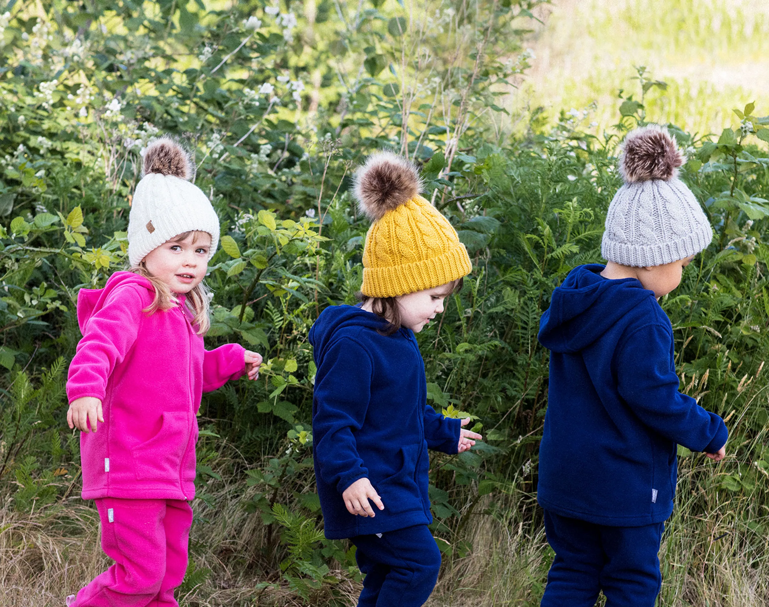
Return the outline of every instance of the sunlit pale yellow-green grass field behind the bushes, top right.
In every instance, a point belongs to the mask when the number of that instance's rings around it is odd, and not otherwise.
[[[669,85],[649,92],[649,113],[688,132],[720,132],[746,100],[769,105],[766,2],[554,0],[528,43],[536,58],[513,107],[554,117],[595,101],[594,132],[616,122],[619,88],[638,90],[635,65]]]

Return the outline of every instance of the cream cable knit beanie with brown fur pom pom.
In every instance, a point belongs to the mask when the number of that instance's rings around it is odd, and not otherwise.
[[[142,178],[128,216],[128,260],[138,265],[164,242],[193,230],[211,235],[208,259],[219,242],[219,218],[198,186],[195,161],[170,137],[147,146]]]

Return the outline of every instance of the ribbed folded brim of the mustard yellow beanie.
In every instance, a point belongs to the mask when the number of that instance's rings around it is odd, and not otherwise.
[[[438,257],[379,268],[363,268],[361,293],[366,297],[398,297],[448,284],[468,275],[472,264],[461,242]]]

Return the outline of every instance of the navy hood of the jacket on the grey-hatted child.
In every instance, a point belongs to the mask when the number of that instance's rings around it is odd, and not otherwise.
[[[553,352],[578,352],[601,338],[654,292],[636,278],[603,278],[604,265],[580,265],[553,292],[539,341]],[[654,302],[656,303],[656,302]]]

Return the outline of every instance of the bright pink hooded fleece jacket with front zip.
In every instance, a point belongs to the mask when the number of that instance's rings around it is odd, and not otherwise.
[[[80,435],[83,499],[195,497],[201,393],[245,371],[243,347],[207,351],[181,305],[142,312],[154,296],[151,282],[133,272],[78,294],[83,339],[67,396],[101,399],[104,412],[97,432]]]

